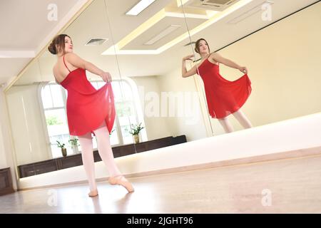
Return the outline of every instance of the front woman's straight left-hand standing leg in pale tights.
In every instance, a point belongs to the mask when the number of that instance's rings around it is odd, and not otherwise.
[[[95,180],[95,162],[93,160],[93,141],[91,140],[91,133],[78,136],[81,145],[81,157],[83,159],[83,167],[85,168],[89,188],[90,197],[98,195],[97,185]]]

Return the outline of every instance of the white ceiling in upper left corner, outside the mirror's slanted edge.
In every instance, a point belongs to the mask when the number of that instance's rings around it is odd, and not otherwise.
[[[16,77],[85,3],[85,0],[0,1],[0,83]],[[56,19],[48,19],[54,9],[51,6],[57,9]]]

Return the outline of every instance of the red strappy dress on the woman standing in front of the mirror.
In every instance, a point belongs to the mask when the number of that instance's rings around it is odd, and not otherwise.
[[[111,132],[116,115],[111,83],[96,90],[88,81],[86,70],[77,68],[69,71],[61,86],[68,91],[66,108],[70,135],[93,133],[103,121]]]

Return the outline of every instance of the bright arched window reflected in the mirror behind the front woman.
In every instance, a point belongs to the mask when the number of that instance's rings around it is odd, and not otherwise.
[[[103,81],[91,81],[91,83],[96,89],[105,85]],[[114,80],[111,82],[111,85],[113,87],[116,108],[116,119],[110,135],[111,145],[133,143],[133,136],[129,133],[131,125],[136,125],[138,120],[143,119],[142,116],[138,116],[142,114],[137,111],[140,106],[136,104],[136,95],[133,93],[133,89],[137,89],[133,88],[136,85],[128,83],[126,80]],[[71,145],[68,142],[70,135],[66,116],[66,98],[66,90],[56,83],[49,83],[41,89],[41,101],[51,143],[52,157],[61,157],[61,149],[57,147],[57,140],[65,143],[68,155],[73,154]],[[146,140],[145,128],[142,130],[142,133],[143,140]],[[93,148],[97,148],[95,137],[93,137]]]

